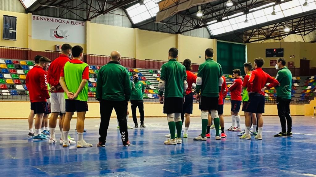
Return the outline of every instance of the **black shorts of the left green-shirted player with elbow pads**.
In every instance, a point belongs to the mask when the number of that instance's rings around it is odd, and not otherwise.
[[[165,98],[163,104],[163,113],[181,113],[183,110],[183,98],[180,97],[169,97]]]

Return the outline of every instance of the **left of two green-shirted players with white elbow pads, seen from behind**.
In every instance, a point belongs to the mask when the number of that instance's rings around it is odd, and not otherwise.
[[[185,66],[179,63],[176,58],[178,58],[178,49],[171,48],[168,53],[169,61],[161,66],[158,83],[159,101],[163,104],[163,113],[167,114],[170,131],[170,139],[164,142],[166,145],[182,143],[181,113],[188,83],[186,82]],[[164,91],[165,100],[162,98]],[[177,137],[175,137],[175,129],[177,129]]]

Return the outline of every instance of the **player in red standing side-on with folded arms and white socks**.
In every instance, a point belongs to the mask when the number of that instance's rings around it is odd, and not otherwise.
[[[232,126],[228,128],[229,131],[241,131],[240,128],[240,116],[239,110],[241,105],[241,85],[242,79],[240,78],[240,69],[233,70],[233,77],[235,78],[234,82],[230,85],[228,90],[231,92],[232,108],[230,110],[230,114],[232,115]],[[235,122],[237,123],[237,127],[235,127]]]

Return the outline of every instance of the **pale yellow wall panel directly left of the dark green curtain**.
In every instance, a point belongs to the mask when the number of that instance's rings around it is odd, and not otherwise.
[[[203,63],[205,61],[205,49],[214,49],[214,41],[216,40],[181,35],[179,41],[180,62],[188,58],[192,63]]]

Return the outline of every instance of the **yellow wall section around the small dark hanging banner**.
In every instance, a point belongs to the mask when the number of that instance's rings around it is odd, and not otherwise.
[[[2,39],[3,35],[3,15],[17,17],[16,20],[16,41]],[[28,17],[27,14],[8,12],[0,10],[0,46],[28,48]]]

